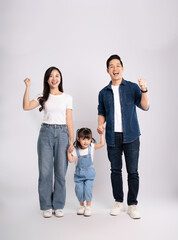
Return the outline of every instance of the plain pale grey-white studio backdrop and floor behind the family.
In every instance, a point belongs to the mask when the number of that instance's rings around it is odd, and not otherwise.
[[[97,235],[105,239],[107,234],[134,240],[176,239],[177,7],[176,0],[0,1],[1,239],[97,239]],[[133,222],[126,215],[109,217],[113,197],[104,147],[95,154],[92,218],[78,220],[75,215],[74,165],[69,165],[66,216],[46,221],[37,194],[36,142],[42,113],[23,111],[23,80],[31,78],[32,99],[42,92],[46,69],[58,67],[64,91],[73,96],[75,131],[89,127],[99,140],[97,98],[110,81],[106,60],[112,54],[121,56],[126,80],[147,79],[150,110],[138,109],[142,132],[138,200],[143,218]],[[125,165],[123,177],[126,195]]]

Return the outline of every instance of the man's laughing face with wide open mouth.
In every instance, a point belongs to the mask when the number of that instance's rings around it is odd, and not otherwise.
[[[107,72],[111,76],[112,81],[121,81],[123,71],[124,71],[124,68],[122,67],[118,59],[113,59],[109,62],[109,67],[107,69]]]

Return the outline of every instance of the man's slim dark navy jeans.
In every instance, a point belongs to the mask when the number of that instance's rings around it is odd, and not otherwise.
[[[139,137],[130,143],[123,143],[123,133],[115,133],[115,146],[107,146],[108,158],[111,163],[111,183],[115,201],[123,202],[122,181],[122,154],[124,153],[128,174],[127,204],[137,205],[139,189],[138,158],[140,140]]]

